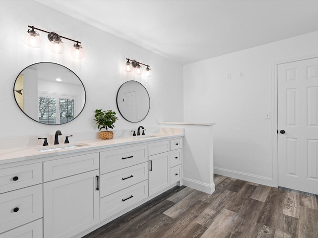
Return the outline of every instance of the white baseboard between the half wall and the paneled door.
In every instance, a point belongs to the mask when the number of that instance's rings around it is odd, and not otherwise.
[[[234,179],[241,179],[244,181],[248,182],[254,182],[266,186],[273,186],[273,179],[272,178],[266,178],[266,177],[261,177],[257,175],[251,175],[251,174],[245,174],[241,173],[238,171],[233,171],[233,170],[226,170],[226,169],[221,169],[221,168],[216,168],[214,167],[214,174],[216,175],[222,175]]]

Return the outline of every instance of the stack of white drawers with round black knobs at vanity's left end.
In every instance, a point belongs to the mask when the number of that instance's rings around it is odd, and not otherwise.
[[[42,204],[42,163],[0,169],[0,238],[40,238],[41,231],[22,226],[42,218]]]

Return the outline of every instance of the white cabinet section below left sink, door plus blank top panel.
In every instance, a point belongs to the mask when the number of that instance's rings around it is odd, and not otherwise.
[[[44,237],[70,238],[98,224],[99,153],[43,162],[43,168]]]

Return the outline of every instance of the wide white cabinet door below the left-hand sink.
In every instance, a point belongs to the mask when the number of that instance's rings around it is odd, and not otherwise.
[[[43,184],[45,238],[70,238],[99,223],[98,170]]]

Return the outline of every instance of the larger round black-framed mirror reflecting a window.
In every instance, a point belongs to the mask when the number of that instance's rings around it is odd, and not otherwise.
[[[29,118],[59,125],[75,119],[85,106],[79,77],[69,68],[50,62],[31,64],[16,77],[14,98]]]

